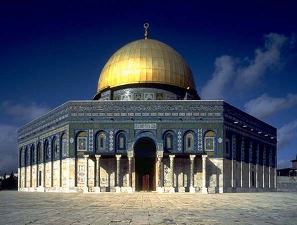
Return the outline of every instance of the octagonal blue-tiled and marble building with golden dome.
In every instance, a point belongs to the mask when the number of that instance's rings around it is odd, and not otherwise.
[[[20,128],[18,151],[19,191],[276,190],[276,129],[201,100],[182,56],[148,38],[111,56],[93,100]]]

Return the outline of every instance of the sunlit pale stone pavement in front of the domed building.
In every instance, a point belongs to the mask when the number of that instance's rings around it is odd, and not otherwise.
[[[0,224],[297,224],[297,193],[0,192]]]

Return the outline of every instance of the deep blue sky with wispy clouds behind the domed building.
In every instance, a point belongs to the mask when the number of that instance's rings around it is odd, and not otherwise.
[[[91,99],[108,58],[143,38],[149,22],[150,37],[186,59],[199,94],[215,78],[209,87],[219,85],[220,98],[281,128],[279,162],[287,165],[297,154],[295,2],[1,1],[0,139],[67,100]],[[230,65],[228,77],[221,70]],[[243,71],[256,76],[246,86],[235,82]],[[15,140],[6,142],[0,170],[16,165]]]

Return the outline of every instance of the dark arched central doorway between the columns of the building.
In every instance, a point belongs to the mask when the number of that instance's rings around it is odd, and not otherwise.
[[[135,190],[155,191],[156,145],[151,138],[140,138],[134,145]]]

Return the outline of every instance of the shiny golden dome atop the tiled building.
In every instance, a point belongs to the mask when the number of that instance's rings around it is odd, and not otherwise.
[[[195,89],[191,69],[181,55],[160,41],[142,39],[111,56],[101,71],[97,91],[143,83]]]

